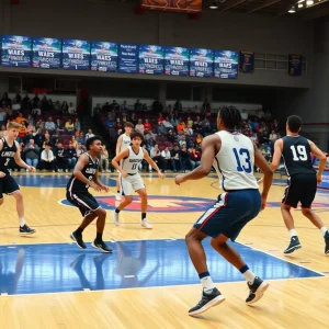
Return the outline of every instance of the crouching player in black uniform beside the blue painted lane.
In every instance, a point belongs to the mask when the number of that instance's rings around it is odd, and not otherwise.
[[[109,188],[100,182],[98,175],[98,156],[100,156],[103,150],[101,138],[99,136],[88,138],[86,141],[86,148],[87,152],[79,157],[73,173],[67,184],[67,200],[77,206],[83,216],[82,224],[70,235],[70,238],[81,249],[86,249],[87,246],[83,242],[82,232],[93,219],[98,218],[97,238],[91,246],[102,250],[103,252],[112,252],[112,250],[103,241],[106,212],[88,192],[89,186],[91,186],[94,191],[103,190],[109,192]]]

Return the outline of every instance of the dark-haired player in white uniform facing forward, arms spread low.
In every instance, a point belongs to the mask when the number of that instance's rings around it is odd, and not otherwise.
[[[141,227],[152,228],[146,218],[147,194],[141,177],[138,173],[138,167],[143,159],[145,159],[158,172],[159,178],[163,179],[163,174],[157,163],[149,157],[147,150],[140,147],[144,136],[138,132],[134,132],[132,133],[131,138],[133,146],[129,146],[127,149],[120,152],[112,160],[113,167],[120,171],[121,189],[125,196],[125,200],[112,213],[112,219],[115,225],[118,225],[118,213],[132,203],[133,191],[136,191],[141,200]],[[121,160],[123,161],[120,162]],[[117,164],[118,162],[121,166]]]

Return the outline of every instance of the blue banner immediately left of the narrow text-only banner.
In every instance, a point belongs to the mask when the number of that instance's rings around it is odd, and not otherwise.
[[[91,70],[116,72],[117,44],[104,42],[91,43]]]

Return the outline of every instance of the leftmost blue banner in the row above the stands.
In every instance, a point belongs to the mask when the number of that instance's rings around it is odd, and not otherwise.
[[[1,65],[31,67],[32,38],[20,35],[2,36]]]

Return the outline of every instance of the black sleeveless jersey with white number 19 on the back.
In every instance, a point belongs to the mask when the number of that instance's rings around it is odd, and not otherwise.
[[[282,156],[288,175],[298,173],[316,173],[311,164],[308,139],[302,136],[285,136]]]

